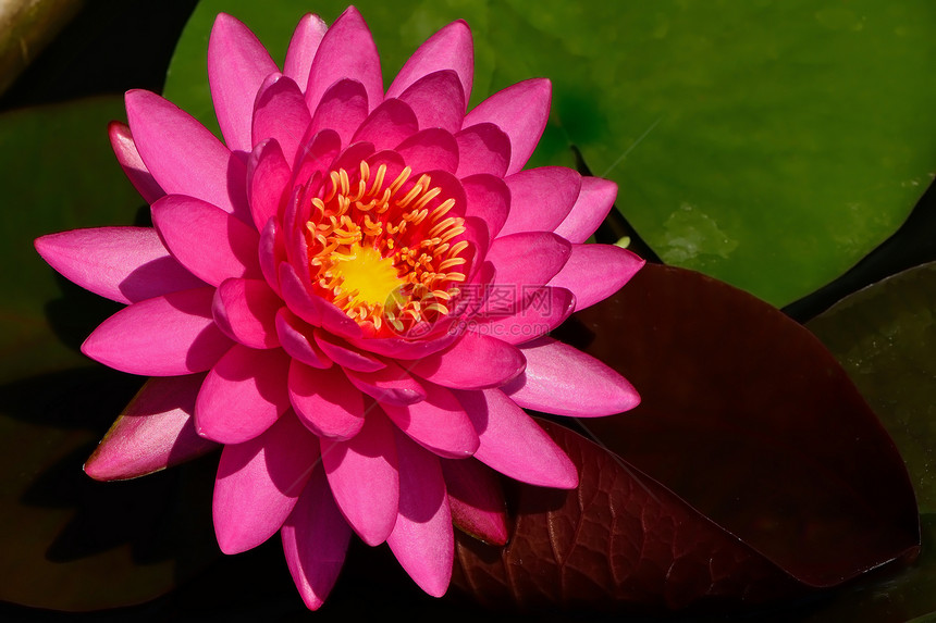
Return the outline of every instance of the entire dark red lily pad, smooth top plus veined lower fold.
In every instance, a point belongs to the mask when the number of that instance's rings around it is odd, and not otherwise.
[[[521,486],[506,548],[459,544],[458,583],[483,601],[758,602],[916,556],[894,443],[832,354],[778,310],[648,265],[561,334],[642,402],[578,420],[604,451],[557,434],[581,485]]]

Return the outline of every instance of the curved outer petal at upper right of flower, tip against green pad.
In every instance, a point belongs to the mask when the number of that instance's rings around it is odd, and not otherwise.
[[[455,72],[467,102],[475,74],[475,46],[471,41],[471,29],[461,20],[448,24],[419,46],[396,74],[386,90],[386,97],[398,97],[422,76],[440,70]],[[461,113],[465,113],[464,109]]]

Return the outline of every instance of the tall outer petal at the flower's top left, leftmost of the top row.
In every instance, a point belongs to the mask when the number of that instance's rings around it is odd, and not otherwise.
[[[231,150],[254,148],[254,100],[263,79],[279,70],[247,26],[225,13],[218,15],[208,39],[208,83],[218,125]]]

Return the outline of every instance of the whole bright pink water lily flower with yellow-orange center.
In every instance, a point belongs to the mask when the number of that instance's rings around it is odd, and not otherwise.
[[[384,91],[355,9],[307,15],[282,71],[241,22],[208,47],[224,142],[147,91],[126,95],[118,160],[153,228],[39,238],[76,284],[127,307],[83,346],[150,376],[85,471],[139,476],[223,445],[218,543],[281,534],[309,608],[352,533],[386,541],[414,581],[445,593],[453,522],[507,539],[502,474],[577,485],[522,410],[619,413],[633,388],[549,337],[642,265],[587,245],[616,186],[524,170],[550,83],[508,87],[466,114],[468,26],[427,40]]]

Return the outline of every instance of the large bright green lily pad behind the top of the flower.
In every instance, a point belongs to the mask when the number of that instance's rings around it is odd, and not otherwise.
[[[281,60],[309,10],[345,3],[204,0],[170,68],[170,99],[217,127],[205,71],[227,11]],[[667,263],[781,306],[841,274],[900,225],[936,172],[936,7],[925,0],[357,3],[386,84],[435,29],[464,17],[472,103],[553,80],[532,164],[618,183],[618,208]]]

